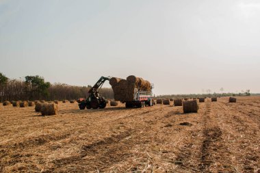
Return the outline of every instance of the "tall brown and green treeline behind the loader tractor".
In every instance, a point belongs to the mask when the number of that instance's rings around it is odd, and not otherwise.
[[[24,80],[9,79],[0,72],[0,101],[73,100],[88,96],[91,86],[49,83],[43,77],[27,76]],[[101,88],[101,96],[114,98],[112,88]]]

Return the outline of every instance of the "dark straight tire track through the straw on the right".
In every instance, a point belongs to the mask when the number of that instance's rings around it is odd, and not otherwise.
[[[222,129],[218,124],[218,103],[206,102],[205,115],[203,118],[204,140],[201,146],[200,172],[235,172],[229,161],[229,153],[223,144]],[[211,110],[213,109],[213,111]],[[221,110],[222,111],[222,110]]]

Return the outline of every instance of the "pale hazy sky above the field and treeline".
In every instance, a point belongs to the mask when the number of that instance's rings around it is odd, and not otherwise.
[[[157,95],[260,93],[260,1],[0,0],[0,72],[70,85],[135,75]]]

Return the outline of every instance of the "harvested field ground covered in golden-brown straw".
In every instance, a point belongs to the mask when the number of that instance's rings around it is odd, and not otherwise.
[[[55,116],[0,106],[0,172],[260,172],[260,97]]]

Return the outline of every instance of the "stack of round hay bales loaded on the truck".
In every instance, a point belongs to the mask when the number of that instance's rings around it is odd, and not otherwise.
[[[136,90],[151,91],[151,83],[133,75],[127,80],[112,77],[109,81],[112,85],[115,101],[133,101]]]

